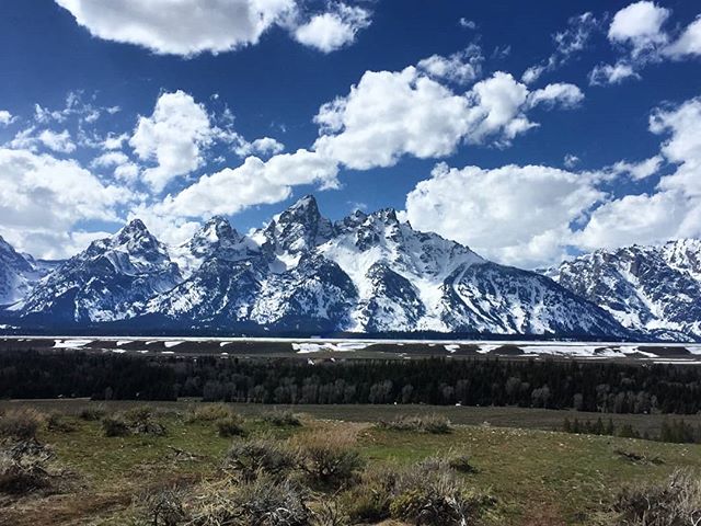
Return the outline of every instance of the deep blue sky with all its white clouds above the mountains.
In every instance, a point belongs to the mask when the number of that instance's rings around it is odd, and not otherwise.
[[[0,235],[66,258],[306,194],[494,261],[701,236],[701,4],[4,0]]]

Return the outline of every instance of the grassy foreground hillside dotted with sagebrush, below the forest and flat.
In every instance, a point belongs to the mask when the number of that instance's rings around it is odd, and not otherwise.
[[[27,405],[2,405],[5,416],[20,407]],[[422,428],[411,419],[381,426],[295,416],[264,405],[246,407],[245,419],[230,407],[205,403],[160,402],[145,409],[66,401],[39,407],[45,415],[49,407],[54,413],[44,416],[37,435],[54,454],[47,468],[50,483],[0,495],[3,525],[253,524],[245,518],[255,507],[251,503],[269,505],[286,495],[289,504],[295,488],[302,488],[300,510],[309,512],[299,513],[309,513],[307,518],[255,524],[416,524],[410,511],[428,499],[425,489],[434,488],[458,495],[467,524],[614,525],[623,524],[617,507],[622,488],[663,483],[677,468],[701,468],[698,445],[487,424],[446,427],[440,416],[416,421],[426,424]],[[345,411],[358,414],[340,407],[335,419],[344,419]],[[522,411],[528,422],[528,410]],[[397,414],[387,408],[384,416],[391,421]],[[266,447],[273,447],[276,460],[261,464],[261,471],[251,469],[251,459],[261,458]],[[319,451],[330,449],[333,455],[342,451],[337,469],[315,469],[324,457]],[[290,451],[301,451],[295,458],[302,461],[288,469]],[[280,482],[283,471],[291,482]],[[221,512],[222,502],[239,510],[239,522],[203,522],[205,508]],[[175,508],[189,518],[177,518]],[[438,521],[422,524],[453,524]]]

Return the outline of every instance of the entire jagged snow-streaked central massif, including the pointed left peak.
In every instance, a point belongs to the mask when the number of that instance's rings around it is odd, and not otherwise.
[[[545,276],[418,232],[392,209],[332,222],[312,196],[249,236],[215,217],[171,248],[135,220],[13,309],[26,321],[129,320],[154,331],[628,335]]]

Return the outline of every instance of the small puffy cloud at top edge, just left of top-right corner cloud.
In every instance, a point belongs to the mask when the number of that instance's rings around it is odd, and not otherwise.
[[[667,42],[663,24],[669,15],[668,9],[655,2],[631,3],[616,13],[608,37],[611,42],[630,45],[633,57],[636,57]]]

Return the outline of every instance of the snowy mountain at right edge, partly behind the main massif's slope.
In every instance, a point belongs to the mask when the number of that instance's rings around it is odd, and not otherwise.
[[[598,250],[547,272],[624,327],[663,339],[701,339],[701,241]]]

